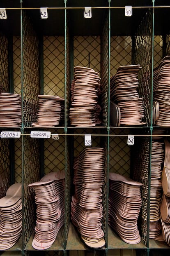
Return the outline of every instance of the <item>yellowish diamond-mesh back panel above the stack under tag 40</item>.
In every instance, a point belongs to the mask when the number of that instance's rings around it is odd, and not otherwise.
[[[115,75],[119,66],[131,65],[131,36],[110,38],[110,76]]]

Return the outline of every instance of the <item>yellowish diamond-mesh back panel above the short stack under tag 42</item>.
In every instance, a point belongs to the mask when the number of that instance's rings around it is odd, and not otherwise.
[[[64,98],[64,37],[44,37],[44,94]]]

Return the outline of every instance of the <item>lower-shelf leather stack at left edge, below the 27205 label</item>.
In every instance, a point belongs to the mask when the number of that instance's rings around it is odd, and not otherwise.
[[[11,185],[5,197],[0,199],[0,250],[16,244],[22,234],[22,187]]]

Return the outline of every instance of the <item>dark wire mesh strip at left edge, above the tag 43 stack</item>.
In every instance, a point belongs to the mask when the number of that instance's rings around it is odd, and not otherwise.
[[[9,92],[8,40],[0,35],[0,93]]]

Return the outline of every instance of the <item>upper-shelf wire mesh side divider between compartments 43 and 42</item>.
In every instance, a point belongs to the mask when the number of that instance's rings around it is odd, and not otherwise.
[[[39,94],[39,42],[23,12],[23,118],[24,126],[36,121]]]

